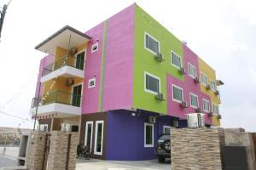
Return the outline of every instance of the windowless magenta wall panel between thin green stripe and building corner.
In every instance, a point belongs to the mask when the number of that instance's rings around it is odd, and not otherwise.
[[[108,19],[102,108],[132,107],[134,5]]]

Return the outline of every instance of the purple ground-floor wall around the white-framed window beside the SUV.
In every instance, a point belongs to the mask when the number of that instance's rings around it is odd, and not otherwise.
[[[140,116],[131,116],[131,111],[108,112],[107,160],[148,160],[154,159],[154,147],[144,147],[144,122],[152,112],[142,111]],[[171,125],[171,116],[160,116],[154,124],[154,146],[163,126]]]

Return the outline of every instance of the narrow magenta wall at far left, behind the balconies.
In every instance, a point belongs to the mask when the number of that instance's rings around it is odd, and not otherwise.
[[[47,65],[52,64],[53,62],[54,62],[54,56],[50,55],[50,54],[45,56],[43,59],[40,60],[40,66],[39,66],[39,71],[38,71],[38,81],[37,81],[37,86],[36,86],[35,97],[38,97],[39,82],[41,81],[42,72],[43,72],[44,67],[46,67]],[[43,84],[41,85],[39,94],[40,95],[43,94]]]

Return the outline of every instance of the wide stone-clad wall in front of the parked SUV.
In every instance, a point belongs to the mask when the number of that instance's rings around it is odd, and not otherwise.
[[[221,170],[220,133],[220,128],[172,129],[172,170]]]

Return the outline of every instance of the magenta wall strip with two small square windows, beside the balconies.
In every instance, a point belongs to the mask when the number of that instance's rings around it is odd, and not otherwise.
[[[84,67],[84,89],[82,99],[82,113],[94,113],[98,111],[100,82],[101,82],[101,66],[102,66],[102,42],[104,34],[104,23],[93,27],[90,31],[85,32],[93,39],[88,43],[86,51],[85,67]],[[91,53],[91,46],[98,42],[98,50]],[[96,77],[96,87],[88,88],[90,78]]]

